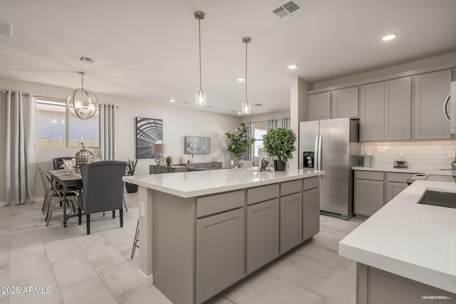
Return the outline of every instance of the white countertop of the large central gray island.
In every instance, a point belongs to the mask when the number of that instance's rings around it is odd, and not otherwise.
[[[123,180],[187,198],[314,177],[324,173],[324,171],[303,169],[247,172],[247,168],[243,168],[126,176]]]

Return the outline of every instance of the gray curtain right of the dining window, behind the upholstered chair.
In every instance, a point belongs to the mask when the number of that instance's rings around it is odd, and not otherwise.
[[[100,159],[111,160],[117,157],[117,106],[100,105]]]

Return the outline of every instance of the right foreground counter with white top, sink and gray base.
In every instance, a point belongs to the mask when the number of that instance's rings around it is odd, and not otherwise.
[[[456,303],[456,209],[418,204],[427,190],[456,183],[414,182],[339,243],[358,262],[358,304]]]

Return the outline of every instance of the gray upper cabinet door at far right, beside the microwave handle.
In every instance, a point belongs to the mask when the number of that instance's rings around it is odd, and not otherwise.
[[[413,77],[415,93],[415,139],[451,138],[450,122],[443,115],[443,102],[450,93],[451,70]]]

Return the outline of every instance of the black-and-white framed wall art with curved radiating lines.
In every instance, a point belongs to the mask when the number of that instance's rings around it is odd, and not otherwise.
[[[152,144],[162,143],[163,121],[155,118],[136,117],[136,158],[155,158]]]

